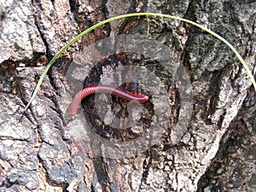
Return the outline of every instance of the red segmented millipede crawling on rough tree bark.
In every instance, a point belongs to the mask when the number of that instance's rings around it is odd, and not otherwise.
[[[119,87],[114,87],[113,85],[108,84],[93,84],[83,90],[80,90],[76,96],[73,98],[73,102],[69,106],[69,115],[74,116],[78,112],[80,102],[84,97],[89,96],[95,93],[110,93],[115,96],[119,96],[130,102],[146,102],[148,101],[148,96],[142,94],[131,93],[127,90],[123,90]]]

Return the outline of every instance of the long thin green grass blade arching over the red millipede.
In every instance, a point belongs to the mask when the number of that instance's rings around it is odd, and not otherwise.
[[[73,44],[75,41],[77,41],[79,38],[81,38],[82,36],[84,36],[86,33],[91,32],[92,30],[96,29],[98,26],[102,26],[110,21],[113,20],[119,20],[121,18],[126,18],[126,17],[134,17],[134,16],[159,16],[159,17],[165,17],[168,19],[172,19],[172,20],[181,20],[183,22],[192,24],[194,26],[197,26],[199,28],[201,28],[203,31],[209,32],[212,36],[214,36],[215,38],[218,38],[219,40],[221,40],[224,44],[226,44],[228,47],[230,47],[230,49],[235,53],[235,55],[237,56],[238,60],[241,61],[242,66],[245,68],[247,75],[249,76],[249,78],[251,79],[252,83],[253,83],[253,87],[254,90],[256,91],[256,82],[253,78],[253,74],[250,71],[250,69],[247,67],[247,64],[245,63],[245,61],[243,61],[243,59],[241,58],[241,55],[237,52],[237,50],[232,46],[232,44],[230,44],[227,40],[225,40],[224,38],[222,38],[221,36],[219,36],[217,33],[212,32],[211,30],[207,29],[204,26],[201,26],[198,23],[195,23],[192,20],[186,20],[183,19],[181,17],[177,17],[177,16],[173,16],[173,15],[163,15],[163,14],[156,14],[156,13],[135,13],[135,14],[127,14],[127,15],[119,15],[119,16],[115,16],[112,18],[109,18],[108,20],[103,20],[102,22],[97,23],[94,26],[91,26],[90,28],[88,28],[87,30],[85,30],[84,32],[81,32],[78,36],[76,36],[75,38],[73,38],[70,42],[68,42],[64,47],[61,48],[61,50],[52,58],[51,61],[49,61],[49,64],[45,67],[44,69],[44,73],[41,75],[40,79],[38,80],[38,84],[35,88],[35,90],[33,91],[33,94],[29,100],[29,102],[26,105],[25,110],[30,106],[30,104],[32,103],[34,97],[37,95],[38,90],[40,89],[41,84],[43,83],[44,77],[45,75],[48,73],[49,68],[52,66],[52,64],[55,62],[55,60],[71,45]]]

